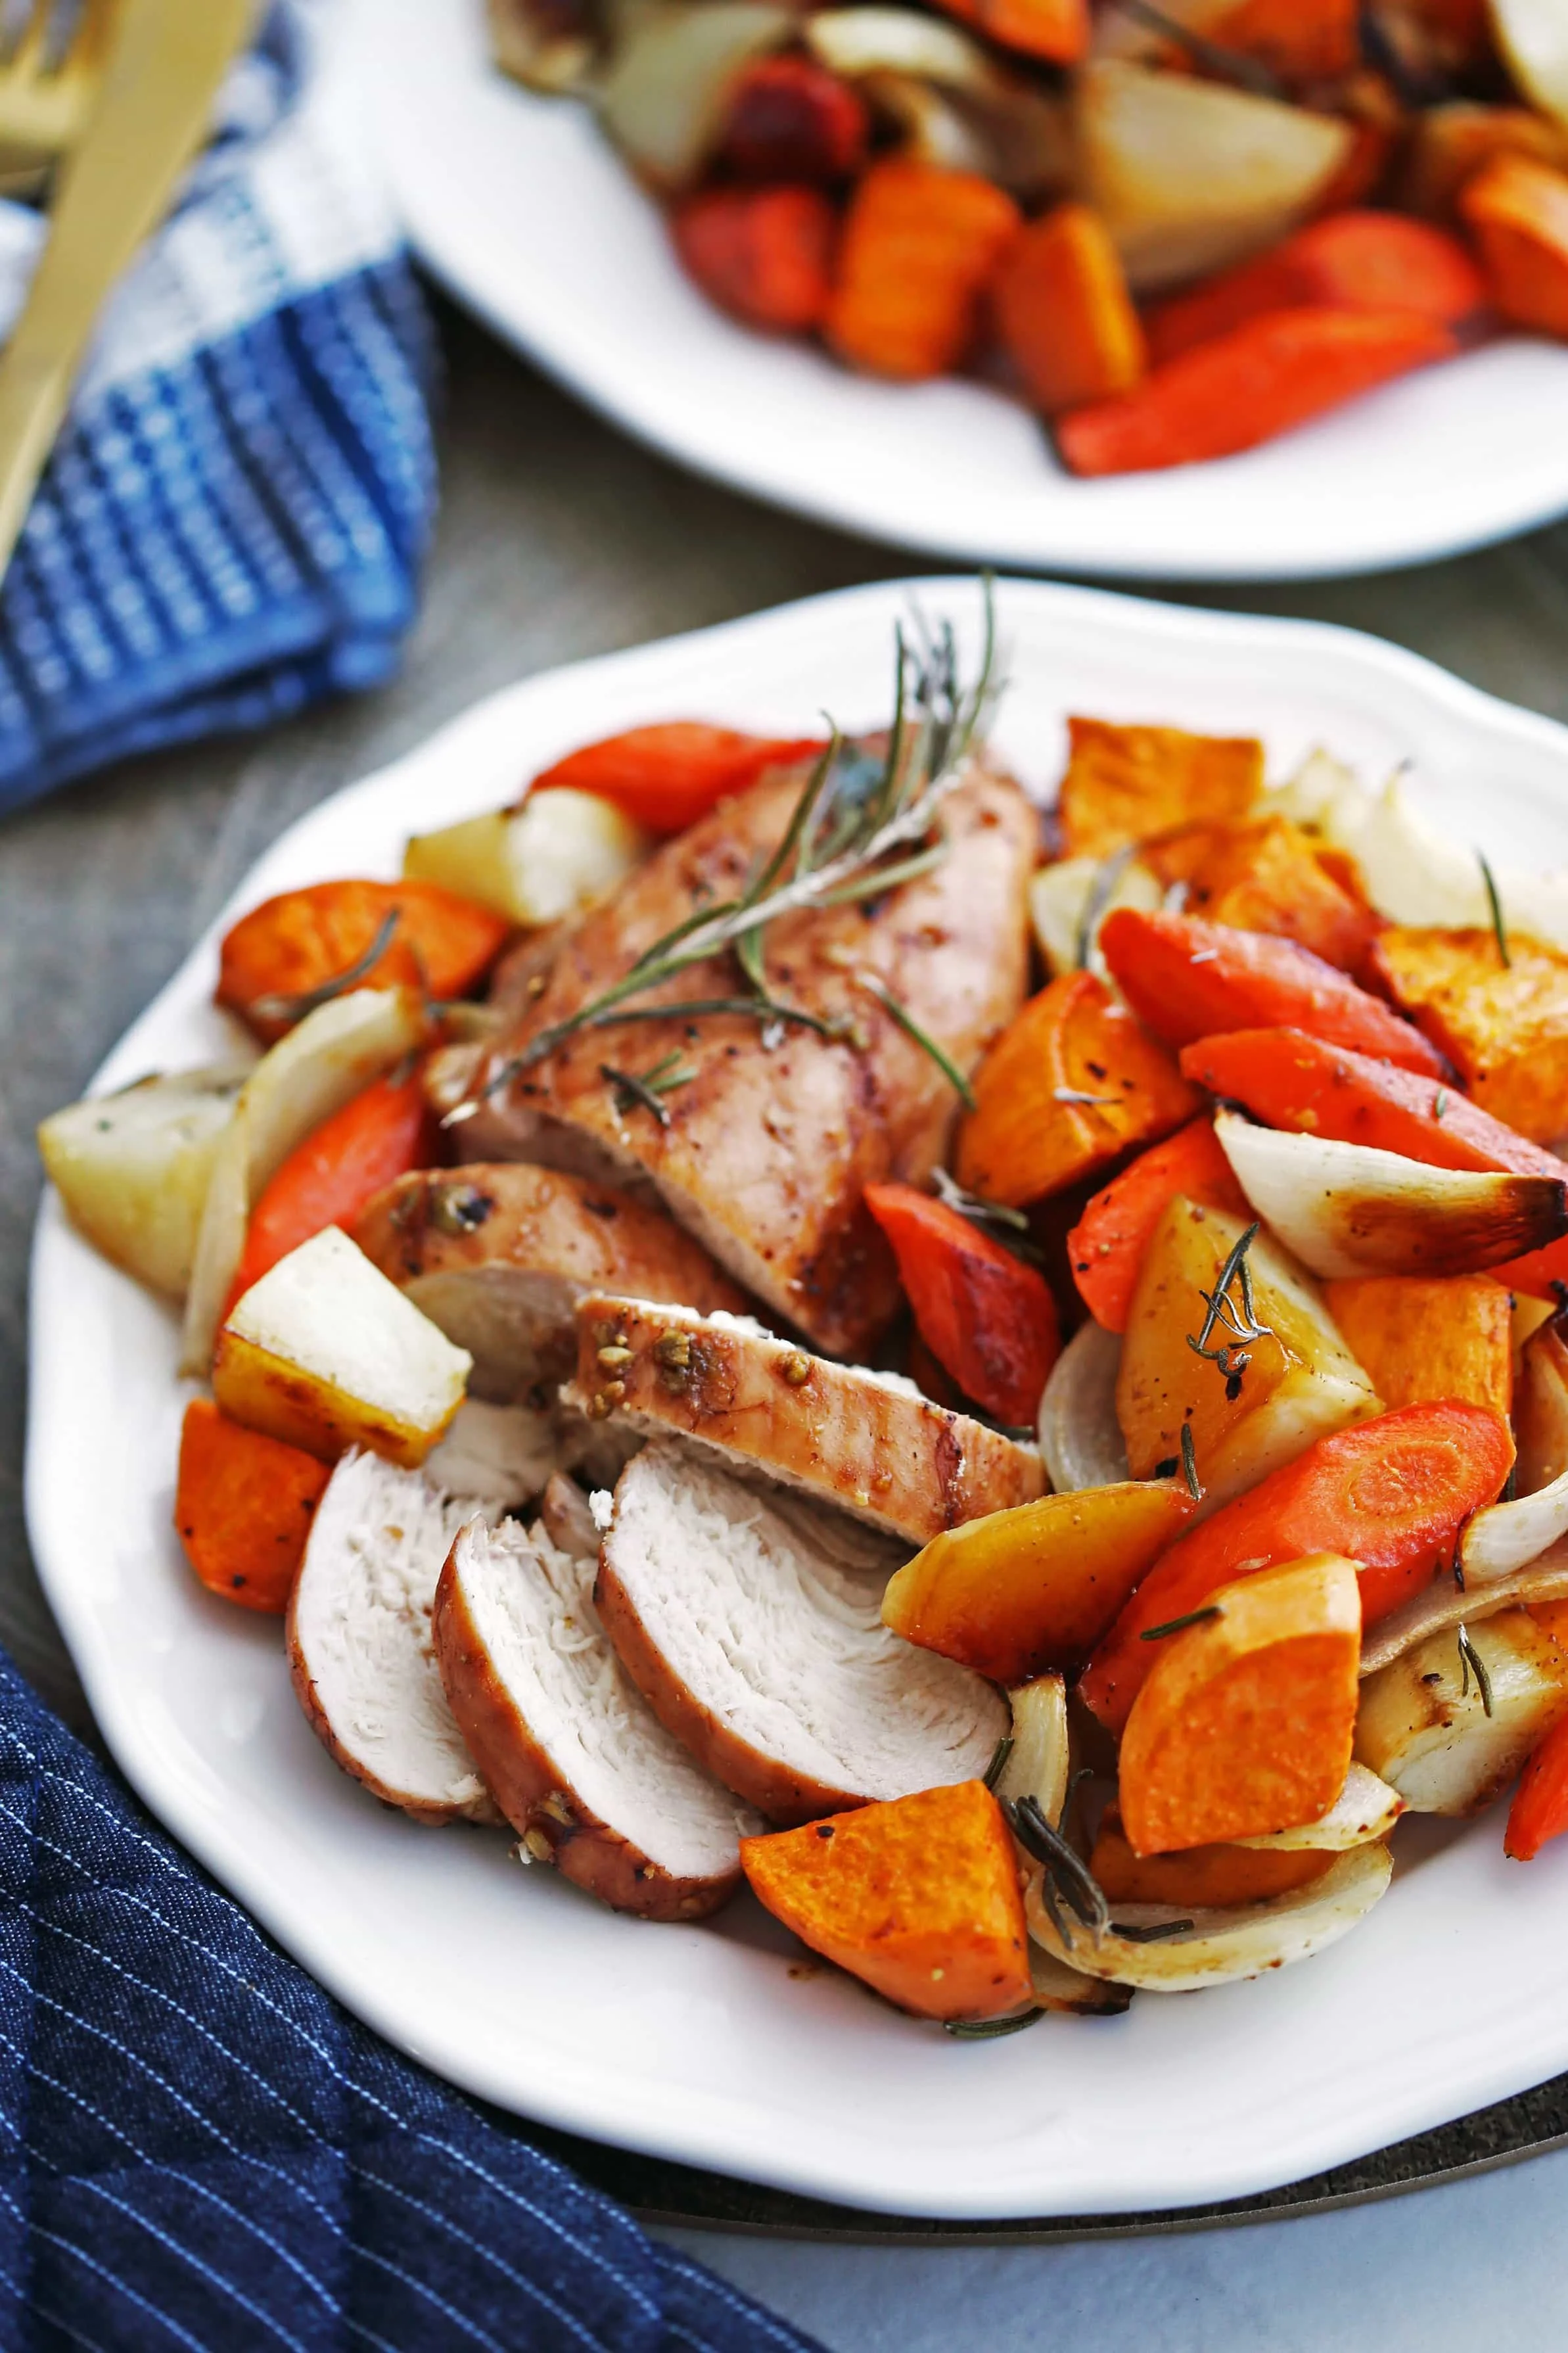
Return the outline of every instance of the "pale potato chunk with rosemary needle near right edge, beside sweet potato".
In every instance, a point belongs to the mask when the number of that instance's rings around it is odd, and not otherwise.
[[[1568,1661],[1528,1609],[1471,1626],[1469,1647],[1481,1675],[1446,1631],[1361,1685],[1356,1755],[1415,1814],[1479,1814],[1568,1711]]]

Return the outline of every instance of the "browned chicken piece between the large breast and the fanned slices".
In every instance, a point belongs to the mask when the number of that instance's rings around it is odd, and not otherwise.
[[[546,1402],[572,1369],[589,1289],[742,1308],[737,1287],[659,1207],[560,1169],[419,1169],[360,1212],[351,1238],[473,1358],[476,1398]]]

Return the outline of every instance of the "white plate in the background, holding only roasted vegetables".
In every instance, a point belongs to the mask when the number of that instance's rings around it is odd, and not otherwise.
[[[490,68],[483,0],[360,0],[410,235],[614,424],[775,506],[1024,572],[1307,579],[1427,562],[1568,508],[1568,351],[1469,353],[1220,466],[1074,482],[977,384],[888,386],[735,327],[572,99]]]

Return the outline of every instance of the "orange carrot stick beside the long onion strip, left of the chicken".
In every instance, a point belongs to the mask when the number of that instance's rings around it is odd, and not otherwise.
[[[384,1186],[436,1160],[438,1132],[419,1075],[377,1078],[290,1153],[250,1212],[228,1304],[325,1226],[348,1226]]]

